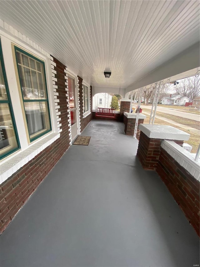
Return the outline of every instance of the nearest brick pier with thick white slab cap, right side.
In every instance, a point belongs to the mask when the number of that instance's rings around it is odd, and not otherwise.
[[[137,157],[145,170],[156,170],[162,140],[172,140],[183,145],[190,135],[167,125],[140,124],[140,140]]]

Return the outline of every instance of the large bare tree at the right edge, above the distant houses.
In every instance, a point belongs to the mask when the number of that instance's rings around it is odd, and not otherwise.
[[[187,96],[193,100],[200,94],[200,77],[192,76],[181,80],[175,90],[178,95]]]

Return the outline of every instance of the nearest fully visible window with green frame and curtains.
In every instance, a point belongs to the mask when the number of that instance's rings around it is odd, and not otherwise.
[[[30,141],[51,131],[44,62],[15,46],[19,83]]]

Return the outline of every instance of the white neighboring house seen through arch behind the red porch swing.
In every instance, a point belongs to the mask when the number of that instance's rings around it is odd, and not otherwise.
[[[93,96],[93,109],[111,108],[112,95],[108,93],[98,93]]]

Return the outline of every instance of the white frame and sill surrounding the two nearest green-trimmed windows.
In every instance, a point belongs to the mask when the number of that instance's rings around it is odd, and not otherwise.
[[[10,98],[12,102],[13,113],[16,122],[17,133],[19,137],[19,143],[21,149],[8,155],[0,161],[0,184],[4,182],[8,177],[10,177],[19,168],[24,166],[33,157],[39,154],[47,146],[53,143],[56,139],[60,137],[57,127],[56,109],[54,102],[54,91],[53,91],[53,80],[52,80],[52,69],[50,54],[41,49],[39,46],[30,45],[30,40],[28,38],[23,38],[23,42],[19,41],[15,36],[8,34],[1,30],[0,33],[1,44],[2,44],[2,54],[4,59],[4,65],[8,80],[8,88],[10,89]],[[29,41],[28,41],[29,40]],[[27,42],[27,43],[26,43]],[[12,53],[12,44],[17,47],[27,51],[29,54],[33,54],[36,58],[44,61],[46,81],[47,81],[47,92],[48,92],[48,102],[49,111],[51,118],[52,131],[47,134],[37,138],[36,140],[28,143],[25,121],[22,113],[22,106],[20,100],[20,91],[17,84],[17,74],[15,72],[14,61],[15,57]]]

